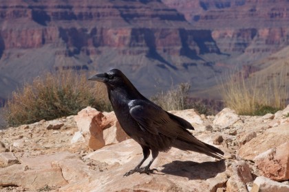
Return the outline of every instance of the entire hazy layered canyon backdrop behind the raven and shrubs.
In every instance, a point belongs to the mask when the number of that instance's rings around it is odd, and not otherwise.
[[[218,97],[226,71],[283,69],[288,22],[285,0],[2,0],[0,100],[44,71],[112,68],[147,96],[189,82]]]

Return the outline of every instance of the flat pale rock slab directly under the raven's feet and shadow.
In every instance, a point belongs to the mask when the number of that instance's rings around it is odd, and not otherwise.
[[[224,160],[215,162],[206,155],[172,148],[160,153],[151,165],[158,172],[123,177],[142,159],[142,148],[132,139],[107,145],[84,158],[105,163],[107,169],[91,179],[71,182],[59,191],[216,191],[224,187],[230,174]],[[143,166],[149,160],[151,156]]]

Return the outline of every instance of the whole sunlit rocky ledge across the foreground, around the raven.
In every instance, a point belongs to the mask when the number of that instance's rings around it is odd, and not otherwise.
[[[215,117],[172,113],[222,149],[224,160],[172,148],[154,161],[155,173],[124,177],[142,158],[140,145],[114,112],[88,107],[0,130],[0,191],[289,191],[289,106],[264,117],[229,108]]]

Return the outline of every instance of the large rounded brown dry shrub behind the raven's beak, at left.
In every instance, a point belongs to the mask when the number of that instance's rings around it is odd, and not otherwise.
[[[85,74],[58,71],[36,77],[31,84],[12,94],[6,107],[8,125],[51,120],[77,112],[87,106],[111,110],[105,88],[87,81]]]

